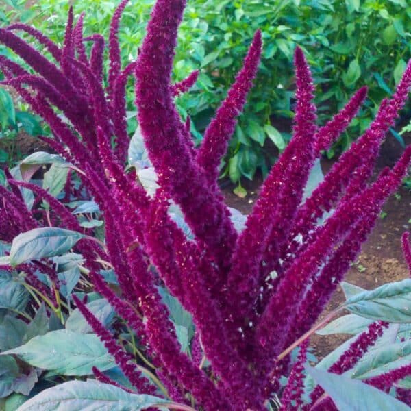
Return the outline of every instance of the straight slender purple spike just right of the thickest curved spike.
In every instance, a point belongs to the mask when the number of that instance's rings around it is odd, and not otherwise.
[[[197,154],[197,164],[207,176],[208,184],[214,186],[219,177],[219,164],[227,151],[229,139],[236,128],[237,116],[244,108],[247,94],[256,77],[262,49],[261,32],[254,35],[236,81],[216,112],[216,116],[204,133],[203,142]]]

